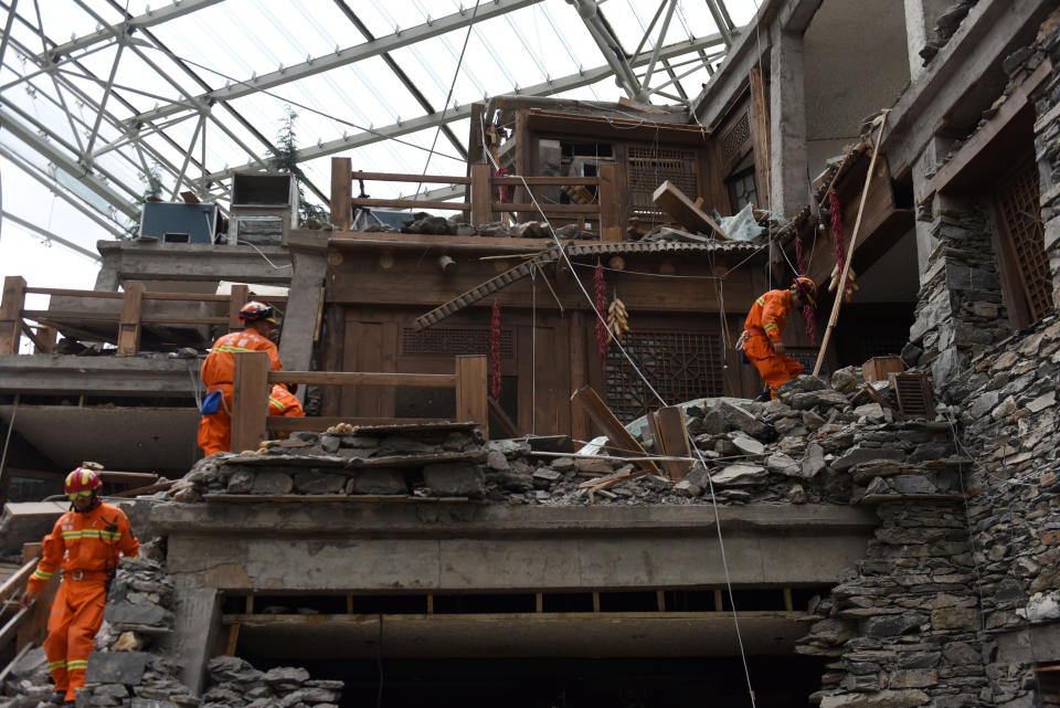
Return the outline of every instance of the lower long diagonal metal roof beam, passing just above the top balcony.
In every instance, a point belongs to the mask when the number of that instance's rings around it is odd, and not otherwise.
[[[720,34],[711,34],[708,36],[699,38],[693,41],[681,41],[676,44],[669,44],[662,47],[659,51],[659,59],[672,59],[675,56],[681,56],[690,52],[698,52],[702,49],[709,49],[711,46],[718,46],[722,43]],[[633,66],[644,65],[648,63],[648,57],[642,57],[633,63]],[[614,70],[611,66],[597,66],[596,68],[587,68],[577,74],[571,74],[562,78],[555,78],[541,84],[536,84],[533,86],[527,86],[519,91],[520,96],[550,96],[552,94],[559,94],[564,91],[570,91],[572,88],[580,88],[581,86],[587,86],[590,84],[595,84],[598,81],[607,78],[614,74]],[[306,160],[312,160],[319,157],[326,157],[328,155],[335,155],[336,152],[342,152],[343,150],[352,150],[354,148],[363,147],[365,145],[371,145],[373,142],[380,142],[390,138],[396,138],[403,135],[409,135],[410,133],[416,133],[418,130],[425,130],[427,128],[435,128],[438,124],[442,123],[455,123],[456,120],[463,120],[469,118],[471,115],[471,107],[462,106],[456,109],[445,112],[443,116],[442,113],[434,113],[426,116],[421,116],[418,118],[413,118],[412,120],[404,120],[402,123],[396,123],[393,125],[384,126],[382,128],[377,128],[374,130],[359,133],[357,135],[350,135],[337,140],[321,141],[317,145],[309,146],[298,150],[298,161],[304,162]],[[236,167],[232,169],[242,170],[242,169],[252,169],[253,166],[246,167]],[[208,175],[206,179],[218,179],[220,175],[226,172],[215,172],[213,175]]]

